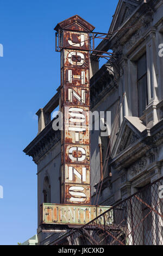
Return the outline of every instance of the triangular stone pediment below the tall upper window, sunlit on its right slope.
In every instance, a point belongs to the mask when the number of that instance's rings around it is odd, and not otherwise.
[[[120,154],[130,145],[141,139],[143,132],[146,131],[146,126],[137,117],[124,117],[120,131],[118,132],[112,157]]]

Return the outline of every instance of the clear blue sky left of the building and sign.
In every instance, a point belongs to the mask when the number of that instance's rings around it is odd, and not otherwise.
[[[118,0],[0,0],[1,164],[0,245],[16,245],[36,234],[36,164],[23,149],[37,133],[35,113],[59,87],[54,30],[75,14],[107,33]]]

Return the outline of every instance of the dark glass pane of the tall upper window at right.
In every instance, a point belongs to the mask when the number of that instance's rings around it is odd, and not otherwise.
[[[139,99],[139,117],[143,115],[145,111],[147,102],[147,75],[141,78],[138,82],[138,99]]]

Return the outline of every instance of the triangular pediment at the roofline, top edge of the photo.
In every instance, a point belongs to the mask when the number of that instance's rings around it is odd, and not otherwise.
[[[109,33],[117,31],[138,5],[139,1],[137,0],[120,0],[113,16]]]

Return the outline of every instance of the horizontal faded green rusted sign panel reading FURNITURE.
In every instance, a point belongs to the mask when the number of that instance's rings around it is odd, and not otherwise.
[[[109,206],[61,205],[43,203],[40,206],[40,224],[84,225],[107,211]],[[107,223],[106,223],[107,222]],[[104,224],[104,217],[100,219]],[[112,211],[106,213],[105,224],[113,223]]]

